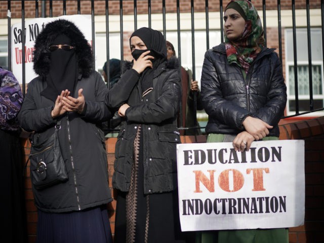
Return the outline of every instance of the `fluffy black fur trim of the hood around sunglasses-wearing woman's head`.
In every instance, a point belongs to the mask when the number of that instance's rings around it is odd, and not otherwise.
[[[75,47],[76,61],[79,73],[89,77],[93,69],[93,55],[90,45],[84,34],[76,25],[68,20],[59,19],[48,23],[38,34],[34,45],[33,68],[37,75],[47,76],[50,70],[49,47],[60,34],[65,34],[71,39],[71,45]]]

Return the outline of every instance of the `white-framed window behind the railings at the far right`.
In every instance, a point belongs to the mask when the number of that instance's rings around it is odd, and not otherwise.
[[[307,29],[296,29],[297,42],[297,76],[298,76],[298,106],[299,112],[310,110],[309,100],[309,67],[308,67],[308,45]],[[293,50],[293,29],[286,29],[286,83],[287,83],[287,112],[288,115],[296,113],[295,99],[295,71],[294,71],[294,50]],[[312,92],[313,109],[320,109],[324,103],[323,92],[323,60],[321,48],[321,30],[320,28],[311,29],[311,56],[312,56]],[[322,115],[323,112],[316,112],[316,115]],[[314,116],[314,113],[309,114]]]

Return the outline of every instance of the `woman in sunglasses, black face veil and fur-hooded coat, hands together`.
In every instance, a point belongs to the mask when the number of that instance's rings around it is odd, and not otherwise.
[[[43,143],[58,129],[67,181],[36,188],[36,242],[112,242],[107,203],[112,201],[104,133],[111,117],[108,89],[93,70],[88,41],[68,20],[48,23],[35,40],[34,71],[18,120]],[[33,182],[33,180],[31,180]]]

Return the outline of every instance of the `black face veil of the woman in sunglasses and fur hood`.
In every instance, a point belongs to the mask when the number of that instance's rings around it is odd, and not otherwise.
[[[57,36],[51,45],[71,45],[71,40],[64,34]],[[50,71],[46,76],[47,88],[41,92],[45,97],[55,102],[62,90],[69,90],[74,94],[77,81],[77,62],[74,49],[65,51],[57,49],[50,54]]]

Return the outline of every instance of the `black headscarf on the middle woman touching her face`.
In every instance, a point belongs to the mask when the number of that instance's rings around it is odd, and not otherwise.
[[[142,91],[145,92],[148,88],[152,87],[154,71],[156,70],[156,68],[159,66],[160,63],[167,60],[167,45],[163,34],[160,31],[151,28],[139,28],[135,30],[134,33],[132,33],[131,38],[134,36],[139,37],[144,42],[145,46],[147,47],[147,50],[151,51],[148,55],[154,57],[154,59],[151,59],[153,63],[153,68],[148,67],[144,70],[143,73],[141,73],[140,82],[142,86]],[[133,57],[135,58],[135,55],[133,55]]]

